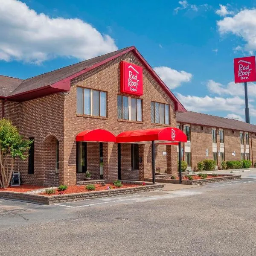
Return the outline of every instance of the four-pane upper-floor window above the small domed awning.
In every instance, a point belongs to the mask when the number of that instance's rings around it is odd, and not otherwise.
[[[76,87],[76,113],[90,116],[107,116],[107,93]]]

